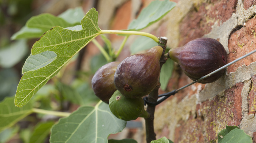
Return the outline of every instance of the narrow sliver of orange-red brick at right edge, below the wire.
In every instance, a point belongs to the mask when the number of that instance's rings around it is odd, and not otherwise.
[[[251,77],[252,87],[248,95],[248,115],[256,113],[256,74]]]

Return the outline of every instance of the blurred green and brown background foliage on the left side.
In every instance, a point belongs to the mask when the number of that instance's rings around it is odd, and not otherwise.
[[[32,16],[41,13],[57,16],[77,7],[87,12],[97,7],[97,0],[0,0],[0,102],[5,97],[14,97],[22,67],[37,40],[11,40],[11,36]],[[92,57],[95,60],[86,61],[89,68],[81,70],[85,56],[86,47],[33,96],[33,107],[72,112],[80,105],[95,105],[99,99],[94,95],[90,81],[106,60],[101,54],[96,54]],[[0,131],[0,143],[30,143],[35,141],[37,134],[42,138],[37,138],[37,142],[49,142],[50,128],[58,119],[56,116],[31,114],[11,128]]]

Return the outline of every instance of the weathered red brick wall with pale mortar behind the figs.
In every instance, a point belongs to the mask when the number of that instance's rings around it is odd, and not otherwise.
[[[125,29],[141,8],[152,0],[114,0],[104,7],[99,0],[99,27]],[[170,48],[182,46],[199,37],[219,40],[228,52],[228,62],[256,49],[255,0],[174,0],[177,6],[160,22],[144,29],[157,37],[166,36]],[[107,12],[110,10],[110,12]],[[110,35],[109,35],[110,36]],[[117,47],[122,37],[109,37]],[[128,39],[120,58],[129,56]],[[169,59],[170,60],[170,59]],[[190,80],[175,65],[166,91],[172,91]],[[224,76],[210,84],[196,83],[179,91],[156,107],[157,138],[166,136],[179,142],[217,142],[225,125],[236,125],[256,142],[256,54],[229,66]],[[138,119],[144,122],[143,119]],[[124,130],[123,137],[145,142],[144,129]],[[113,135],[115,136],[115,135]]]

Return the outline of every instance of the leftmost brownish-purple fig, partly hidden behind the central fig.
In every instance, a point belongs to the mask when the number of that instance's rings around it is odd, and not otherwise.
[[[100,67],[92,78],[92,88],[95,95],[105,103],[117,90],[114,85],[114,74],[120,62],[110,62]]]

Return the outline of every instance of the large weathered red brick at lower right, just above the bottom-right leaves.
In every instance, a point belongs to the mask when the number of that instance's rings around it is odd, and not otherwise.
[[[225,125],[238,126],[242,120],[242,88],[237,83],[224,91],[224,96],[216,96],[210,101],[198,104],[197,117],[191,115],[188,120],[180,120],[175,129],[175,143],[179,142],[215,142],[217,134]]]

